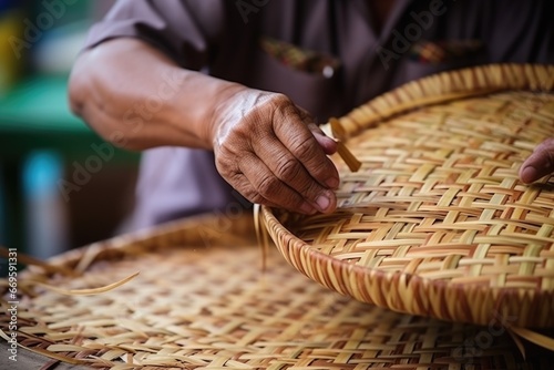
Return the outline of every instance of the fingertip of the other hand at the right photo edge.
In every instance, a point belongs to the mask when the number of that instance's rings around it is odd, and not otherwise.
[[[535,147],[520,168],[520,178],[531,184],[538,178],[554,173],[554,137],[547,138]]]

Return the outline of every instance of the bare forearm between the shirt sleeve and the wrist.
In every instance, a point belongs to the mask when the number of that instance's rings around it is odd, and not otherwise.
[[[103,138],[130,150],[212,150],[215,107],[244,89],[184,70],[134,39],[116,39],[84,52],[69,84],[73,112]]]

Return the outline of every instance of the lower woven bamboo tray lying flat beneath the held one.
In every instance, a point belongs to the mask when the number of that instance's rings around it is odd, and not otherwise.
[[[261,270],[249,215],[207,216],[91,245],[19,279],[18,340],[102,369],[547,369],[502,326],[400,315],[311,281],[275,250]],[[140,271],[123,286],[90,289]],[[7,281],[1,281],[1,289]],[[42,284],[42,285],[41,285]],[[7,309],[7,297],[1,300]],[[8,317],[0,316],[3,336]],[[23,349],[20,349],[20,358]],[[7,364],[4,354],[1,364]]]

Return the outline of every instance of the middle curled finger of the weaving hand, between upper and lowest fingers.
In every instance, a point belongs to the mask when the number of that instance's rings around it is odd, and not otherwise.
[[[319,212],[327,213],[335,209],[335,194],[315,181],[305,166],[276,136],[260,137],[254,143],[254,150],[275,177],[298,193]]]

